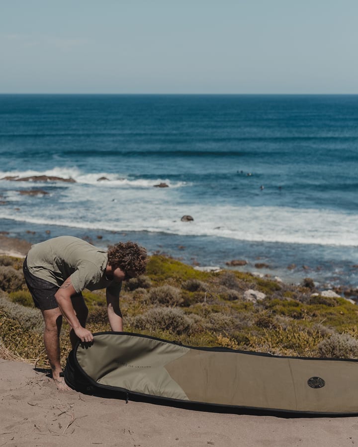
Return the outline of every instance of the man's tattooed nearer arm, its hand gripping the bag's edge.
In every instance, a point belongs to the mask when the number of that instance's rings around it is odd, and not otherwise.
[[[81,323],[76,316],[75,309],[73,308],[71,296],[74,294],[76,294],[76,291],[72,285],[71,278],[67,278],[60,289],[56,292],[55,298],[62,314],[66,318],[69,325],[73,328],[78,338],[82,342],[91,342],[93,340],[93,335],[88,329],[81,326]]]

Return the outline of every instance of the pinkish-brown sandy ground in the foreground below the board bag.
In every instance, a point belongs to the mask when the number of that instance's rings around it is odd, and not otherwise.
[[[60,392],[44,372],[0,360],[0,446],[352,446],[358,417],[210,413]]]

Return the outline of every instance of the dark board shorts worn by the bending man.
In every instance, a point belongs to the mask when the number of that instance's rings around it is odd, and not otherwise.
[[[24,260],[22,271],[35,306],[41,310],[56,309],[58,304],[55,299],[55,293],[59,290],[59,286],[32,275],[29,272],[26,261],[27,258]]]

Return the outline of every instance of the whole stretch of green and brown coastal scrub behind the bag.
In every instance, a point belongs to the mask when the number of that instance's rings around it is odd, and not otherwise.
[[[0,357],[47,366],[43,321],[33,308],[19,260],[0,257]],[[248,301],[253,289],[266,295]],[[164,256],[152,256],[147,273],[123,285],[124,330],[191,346],[223,346],[276,355],[358,358],[358,307],[328,298],[305,278],[292,286],[249,273],[200,272]],[[83,293],[88,328],[109,330],[104,291]],[[63,325],[63,361],[70,351]],[[11,357],[12,356],[12,357]]]

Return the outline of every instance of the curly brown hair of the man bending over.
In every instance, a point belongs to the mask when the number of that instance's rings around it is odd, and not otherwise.
[[[119,242],[108,248],[108,264],[123,272],[131,272],[132,276],[142,275],[147,262],[147,250],[135,242]]]

